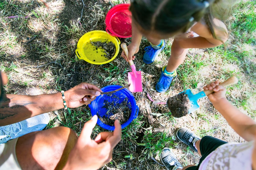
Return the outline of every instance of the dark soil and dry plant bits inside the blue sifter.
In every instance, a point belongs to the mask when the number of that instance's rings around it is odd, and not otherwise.
[[[111,98],[118,99],[118,96],[113,94],[108,94]],[[120,124],[123,124],[128,121],[131,116],[131,103],[128,101],[126,97],[121,103],[118,100],[112,100],[112,102],[104,100],[104,106],[102,108],[106,108],[107,112],[104,116],[100,116],[98,113],[98,117],[102,123],[114,126],[114,122],[116,119],[119,120]]]

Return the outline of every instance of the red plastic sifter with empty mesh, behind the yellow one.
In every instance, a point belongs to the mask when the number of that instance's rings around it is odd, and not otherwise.
[[[132,13],[130,4],[119,4],[111,8],[106,15],[106,31],[120,38],[132,37]]]

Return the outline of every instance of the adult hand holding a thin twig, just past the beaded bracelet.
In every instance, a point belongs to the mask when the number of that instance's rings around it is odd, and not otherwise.
[[[68,108],[76,108],[83,104],[90,104],[95,96],[100,95],[101,89],[89,83],[80,83],[79,85],[65,92]]]

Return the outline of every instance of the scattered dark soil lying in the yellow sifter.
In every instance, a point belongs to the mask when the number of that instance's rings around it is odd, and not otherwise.
[[[105,41],[105,42],[100,42],[100,41],[90,41],[90,43],[95,47],[96,52],[102,51],[104,52],[104,57],[106,57],[108,60],[110,60],[112,57],[115,55],[115,44],[111,41]]]

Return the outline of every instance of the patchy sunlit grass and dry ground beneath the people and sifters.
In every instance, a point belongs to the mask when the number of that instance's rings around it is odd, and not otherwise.
[[[38,3],[38,4],[37,4]],[[6,93],[38,95],[68,90],[80,82],[98,87],[117,84],[126,85],[129,65],[119,56],[111,63],[92,65],[79,60],[72,51],[79,38],[92,30],[105,30],[104,19],[108,10],[123,1],[89,0],[84,8],[81,25],[80,1],[50,0],[47,8],[41,1],[1,1],[0,10],[0,69],[8,74]],[[76,12],[72,12],[72,10]],[[142,71],[143,88],[152,99],[166,101],[181,91],[190,88],[198,93],[211,81],[225,80],[231,75],[238,77],[236,85],[227,88],[228,100],[253,119],[256,116],[256,15],[255,1],[240,1],[227,20],[229,39],[223,45],[209,49],[190,49],[185,62],[177,69],[177,78],[164,94],[155,91],[155,84],[162,67],[167,64],[173,39],[150,65],[142,62],[143,48],[148,41],[143,37],[135,64]],[[8,16],[18,18],[6,18]],[[29,16],[27,19],[24,16]],[[36,38],[27,45],[29,38]],[[130,43],[131,38],[121,43]],[[207,98],[198,101],[200,109],[180,119],[173,118],[164,105],[151,103],[145,93],[135,93],[140,108],[138,117],[122,129],[122,140],[113,151],[113,160],[101,169],[164,169],[151,157],[159,159],[164,147],[173,148],[177,158],[185,166],[197,164],[199,155],[191,151],[175,137],[179,127],[188,127],[199,136],[211,135],[229,142],[243,141],[213,108]],[[154,123],[149,124],[145,102],[150,104]],[[57,110],[49,113],[47,128],[66,126],[79,135],[84,123],[91,118],[88,106]],[[163,128],[164,132],[154,132]],[[103,128],[96,125],[95,138]]]

